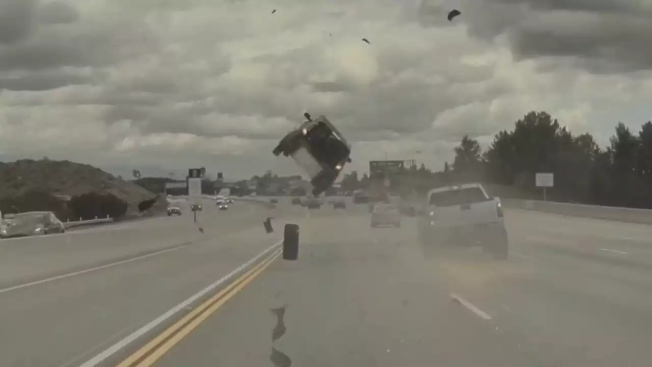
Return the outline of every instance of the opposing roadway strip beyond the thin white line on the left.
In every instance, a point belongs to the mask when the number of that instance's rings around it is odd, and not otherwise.
[[[220,212],[209,200],[205,200],[204,208],[198,223],[193,222],[190,210],[185,210],[180,217],[156,217],[64,234],[0,240],[0,289],[243,229],[254,221],[262,221],[268,212],[251,203],[234,203],[230,210]],[[205,232],[202,234],[198,227]]]

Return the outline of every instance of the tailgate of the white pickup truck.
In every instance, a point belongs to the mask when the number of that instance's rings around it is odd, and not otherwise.
[[[493,199],[456,206],[430,207],[430,220],[437,227],[474,225],[497,221],[497,202]],[[429,214],[430,214],[429,213]]]

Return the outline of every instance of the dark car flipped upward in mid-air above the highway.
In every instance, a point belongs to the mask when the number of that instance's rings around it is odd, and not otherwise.
[[[315,197],[333,185],[346,163],[351,162],[351,146],[325,116],[307,121],[290,131],[274,148],[274,155],[292,157],[312,183]]]

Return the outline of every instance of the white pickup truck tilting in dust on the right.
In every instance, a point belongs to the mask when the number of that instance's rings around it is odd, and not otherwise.
[[[501,202],[480,183],[439,187],[428,192],[417,228],[423,246],[482,246],[507,259],[507,230]]]

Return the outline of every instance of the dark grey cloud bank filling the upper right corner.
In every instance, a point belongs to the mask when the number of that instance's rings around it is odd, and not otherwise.
[[[652,70],[652,3],[643,0],[461,0],[469,34],[507,34],[516,59],[567,57],[597,73]],[[420,19],[444,9],[424,0]],[[428,11],[430,13],[428,13]],[[430,15],[429,15],[430,14]],[[439,22],[441,23],[441,22]]]

